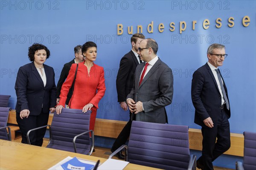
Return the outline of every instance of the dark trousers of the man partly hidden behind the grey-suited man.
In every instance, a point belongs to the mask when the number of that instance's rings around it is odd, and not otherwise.
[[[125,125],[125,127],[122,129],[122,131],[120,132],[118,137],[116,138],[116,140],[115,140],[115,142],[114,142],[114,144],[112,146],[112,150],[117,150],[120,146],[125,144],[125,142],[127,141],[128,137],[130,136],[132,120],[135,120],[135,115],[134,115],[134,113],[132,114],[130,112],[130,119],[127,122],[127,124]]]

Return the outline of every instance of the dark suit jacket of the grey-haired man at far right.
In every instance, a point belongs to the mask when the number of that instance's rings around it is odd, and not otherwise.
[[[227,94],[227,87],[222,76],[221,78]],[[195,123],[207,127],[203,120],[209,116],[212,122],[216,123],[221,115],[221,94],[212,70],[207,63],[198,68],[193,74],[191,96],[195,107]],[[230,110],[227,111],[227,118],[230,118]]]

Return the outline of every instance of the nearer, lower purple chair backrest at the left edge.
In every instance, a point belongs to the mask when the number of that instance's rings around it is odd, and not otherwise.
[[[0,107],[0,127],[7,125],[10,108]],[[8,133],[6,128],[0,130],[0,139],[8,140]]]

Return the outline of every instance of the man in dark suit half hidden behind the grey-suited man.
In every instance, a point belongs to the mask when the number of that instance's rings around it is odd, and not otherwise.
[[[125,99],[126,96],[130,93],[133,86],[135,69],[137,65],[142,62],[139,55],[137,54],[137,51],[139,47],[139,42],[144,38],[145,36],[143,34],[133,34],[133,36],[131,37],[131,51],[125,54],[125,56],[122,57],[120,61],[119,71],[116,77],[116,90],[118,102],[120,103],[120,106],[124,111],[128,110]],[[132,114],[130,112],[130,119],[119,134],[119,136],[116,138],[116,141],[111,148],[112,152],[125,144],[128,137],[130,136],[131,121],[134,120],[131,115]],[[119,152],[116,156],[119,159],[124,159],[122,152]]]

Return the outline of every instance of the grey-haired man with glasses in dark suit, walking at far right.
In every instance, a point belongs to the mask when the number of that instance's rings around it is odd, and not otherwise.
[[[193,74],[191,96],[195,123],[202,127],[203,135],[202,156],[197,167],[213,170],[212,161],[230,148],[230,105],[227,87],[218,70],[227,57],[225,46],[210,45],[207,57],[208,62]]]

